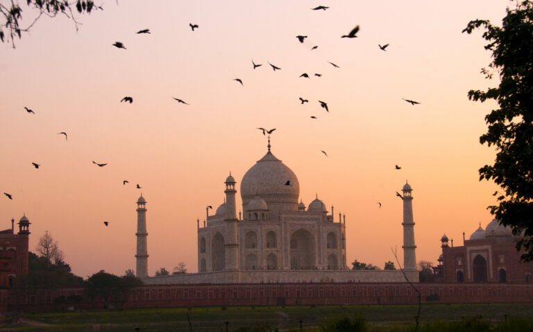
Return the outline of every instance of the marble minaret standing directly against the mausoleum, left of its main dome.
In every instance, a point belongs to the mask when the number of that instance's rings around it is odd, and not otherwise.
[[[239,269],[239,243],[237,243],[237,214],[235,213],[235,179],[228,176],[226,179],[226,216],[224,217],[224,224],[226,225],[226,237],[224,243],[224,250],[226,262],[224,262],[224,270],[238,270]]]

